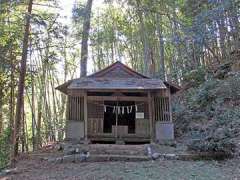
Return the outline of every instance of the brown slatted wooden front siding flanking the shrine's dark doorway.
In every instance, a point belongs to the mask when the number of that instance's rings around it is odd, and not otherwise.
[[[136,119],[135,134],[125,133],[124,137],[144,137],[154,138],[155,121],[171,122],[170,97],[155,96],[156,94],[148,94],[148,97],[136,100],[138,105],[137,112],[144,112],[143,119]],[[159,94],[158,94],[159,95]],[[115,137],[112,133],[103,133],[104,126],[104,98],[89,98],[91,96],[68,96],[67,103],[67,119],[76,121],[85,121],[88,137]],[[110,96],[111,97],[111,96]],[[113,96],[114,97],[114,96]],[[119,98],[119,97],[118,97]],[[90,100],[91,99],[91,100]],[[107,98],[107,100],[109,100]],[[125,99],[124,99],[125,100]],[[133,99],[131,99],[133,100]],[[86,103],[86,104],[85,104]],[[85,106],[87,107],[85,109]],[[86,118],[86,120],[85,120]]]

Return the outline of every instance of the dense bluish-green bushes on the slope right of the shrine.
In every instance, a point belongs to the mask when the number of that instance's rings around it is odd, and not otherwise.
[[[188,137],[190,150],[239,153],[239,87],[240,74],[235,73],[223,80],[210,79],[176,101],[176,132]]]

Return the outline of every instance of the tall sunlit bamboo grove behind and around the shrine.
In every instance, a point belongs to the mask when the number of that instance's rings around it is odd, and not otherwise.
[[[192,72],[229,61],[240,46],[238,0],[108,0],[100,8],[94,3],[91,10],[86,1],[74,1],[66,24],[57,0],[33,1],[31,14],[27,0],[0,1],[0,167],[10,158],[16,132],[17,152],[64,139],[66,97],[55,87],[79,77],[87,21],[88,73],[123,61],[182,85]],[[26,76],[17,107],[27,17]]]

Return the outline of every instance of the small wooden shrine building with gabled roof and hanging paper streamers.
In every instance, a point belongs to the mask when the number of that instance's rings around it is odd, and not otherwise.
[[[66,140],[174,138],[170,101],[178,86],[146,77],[121,62],[57,89],[68,96]]]

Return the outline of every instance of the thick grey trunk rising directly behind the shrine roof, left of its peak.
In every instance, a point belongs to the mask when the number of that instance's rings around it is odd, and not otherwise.
[[[85,17],[82,31],[82,46],[81,46],[81,77],[87,75],[87,59],[88,59],[88,37],[90,31],[91,9],[93,0],[88,0],[85,7]]]

